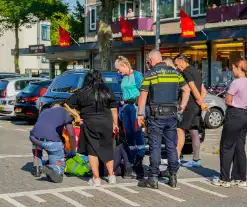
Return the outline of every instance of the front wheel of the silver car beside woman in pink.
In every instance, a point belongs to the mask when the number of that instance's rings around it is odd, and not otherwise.
[[[209,129],[219,128],[224,120],[224,116],[219,109],[212,108],[205,115],[205,125]]]

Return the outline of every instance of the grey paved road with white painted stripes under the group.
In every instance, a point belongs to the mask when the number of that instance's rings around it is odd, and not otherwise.
[[[209,183],[219,172],[219,157],[209,153],[201,154],[201,168],[180,169],[177,189],[168,187],[166,180],[160,180],[159,190],[152,190],[121,178],[117,185],[104,181],[100,188],[78,177],[65,177],[62,184],[50,183],[45,177],[34,178],[29,173],[31,128],[22,121],[0,120],[0,207],[247,206],[247,188],[225,189]]]

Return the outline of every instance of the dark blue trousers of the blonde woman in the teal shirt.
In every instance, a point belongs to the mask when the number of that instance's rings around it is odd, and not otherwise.
[[[122,110],[123,127],[130,149],[130,162],[133,163],[136,156],[145,156],[144,134],[138,125],[137,106],[135,104],[125,104]]]

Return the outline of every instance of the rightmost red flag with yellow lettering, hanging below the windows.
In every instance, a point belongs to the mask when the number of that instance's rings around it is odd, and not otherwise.
[[[195,24],[194,21],[180,8],[181,18],[181,36],[183,38],[195,37]]]

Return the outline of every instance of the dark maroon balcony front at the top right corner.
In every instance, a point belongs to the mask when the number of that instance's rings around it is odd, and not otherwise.
[[[207,10],[207,23],[247,19],[247,4],[224,5]]]

